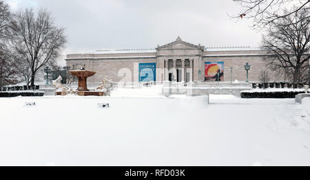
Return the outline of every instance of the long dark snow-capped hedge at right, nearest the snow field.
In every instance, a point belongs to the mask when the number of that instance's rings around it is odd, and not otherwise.
[[[302,92],[241,92],[242,98],[295,98]]]

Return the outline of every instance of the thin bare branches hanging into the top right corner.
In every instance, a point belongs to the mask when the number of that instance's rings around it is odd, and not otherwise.
[[[254,19],[254,28],[265,28],[273,21],[284,19],[300,10],[310,8],[309,0],[233,0],[242,11],[231,17]],[[304,17],[309,19],[309,14]],[[300,19],[301,20],[301,19]],[[293,22],[298,23],[298,21]]]

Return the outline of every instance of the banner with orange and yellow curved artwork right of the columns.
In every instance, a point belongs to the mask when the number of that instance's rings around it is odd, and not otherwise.
[[[205,81],[224,81],[224,62],[205,62]]]

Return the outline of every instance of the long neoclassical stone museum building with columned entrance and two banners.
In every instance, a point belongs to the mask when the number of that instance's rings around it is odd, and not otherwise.
[[[264,56],[260,48],[206,48],[178,37],[154,49],[67,54],[65,61],[71,70],[83,67],[95,71],[88,83],[100,83],[106,76],[114,82],[245,81],[245,63],[251,66],[249,81],[259,81],[262,71],[269,72],[271,81],[284,80],[284,76],[268,70]]]

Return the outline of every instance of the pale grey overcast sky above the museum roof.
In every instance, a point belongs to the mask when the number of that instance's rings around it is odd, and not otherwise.
[[[236,21],[233,0],[5,0],[52,12],[68,37],[65,53],[100,49],[156,48],[176,40],[214,46],[259,46],[247,19]]]

